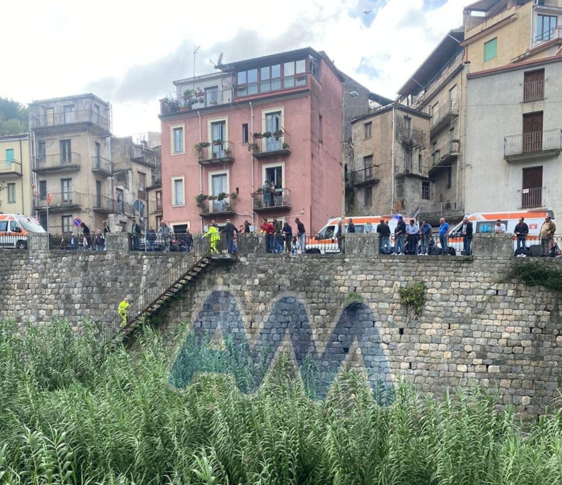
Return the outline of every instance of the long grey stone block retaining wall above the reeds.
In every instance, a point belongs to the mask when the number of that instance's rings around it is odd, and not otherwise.
[[[529,414],[552,405],[562,379],[560,294],[506,281],[511,266],[521,262],[510,258],[505,241],[494,240],[486,246],[489,253],[483,248],[473,259],[415,258],[374,254],[365,236],[357,237],[362,239],[348,245],[346,255],[247,252],[232,265],[217,262],[161,312],[161,329],[178,351],[185,335],[176,333],[177,324],[189,321],[223,335],[236,328],[254,351],[289,348],[290,341],[297,360],[312,342],[325,360],[379,369],[388,381],[404,376],[424,392],[475,382],[497,388],[502,403]],[[76,329],[84,318],[112,320],[125,294],[137,295],[178,257],[58,251],[3,256],[0,318],[48,324],[64,317]],[[398,288],[417,282],[425,285],[426,302],[418,320],[408,321]],[[354,320],[342,307],[350,293],[361,297],[362,313],[372,318]],[[334,334],[338,325],[341,335]],[[361,329],[369,326],[365,338]]]

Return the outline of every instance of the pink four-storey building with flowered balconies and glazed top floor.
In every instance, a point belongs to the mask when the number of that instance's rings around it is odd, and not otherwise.
[[[198,232],[211,219],[261,226],[276,216],[294,231],[298,217],[314,232],[341,214],[351,80],[311,48],[216,67],[175,81],[176,95],[161,100],[163,219]]]

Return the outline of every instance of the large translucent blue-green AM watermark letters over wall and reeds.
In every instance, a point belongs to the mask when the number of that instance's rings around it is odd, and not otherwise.
[[[301,300],[282,297],[257,330],[250,347],[237,301],[228,291],[213,291],[176,357],[170,383],[185,388],[197,372],[220,372],[233,374],[242,392],[255,392],[287,339],[303,381],[310,383],[314,379],[313,385],[307,387],[310,397],[325,396],[342,363],[357,347],[373,389],[391,383],[377,323],[363,303],[344,308],[329,338],[319,339],[321,329],[313,329]],[[217,331],[226,343],[220,349],[209,345]],[[316,342],[314,334],[322,342]]]

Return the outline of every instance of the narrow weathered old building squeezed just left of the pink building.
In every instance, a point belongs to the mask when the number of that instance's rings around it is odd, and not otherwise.
[[[131,222],[137,218],[140,226],[148,223],[151,209],[147,187],[153,185],[153,177],[161,172],[160,150],[149,148],[146,141],[133,143],[133,138],[111,138],[111,161],[117,210],[111,215],[112,227],[130,230]],[[135,201],[137,207],[135,208]],[[139,208],[142,206],[142,211]]]

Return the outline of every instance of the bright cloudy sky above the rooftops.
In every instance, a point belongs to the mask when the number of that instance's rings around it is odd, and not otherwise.
[[[172,81],[223,63],[310,46],[365,87],[396,91],[470,0],[3,2],[0,96],[22,103],[92,92],[117,136],[160,131]],[[11,39],[8,42],[7,39]],[[193,50],[199,46],[195,66]],[[6,75],[10,66],[9,73]]]

